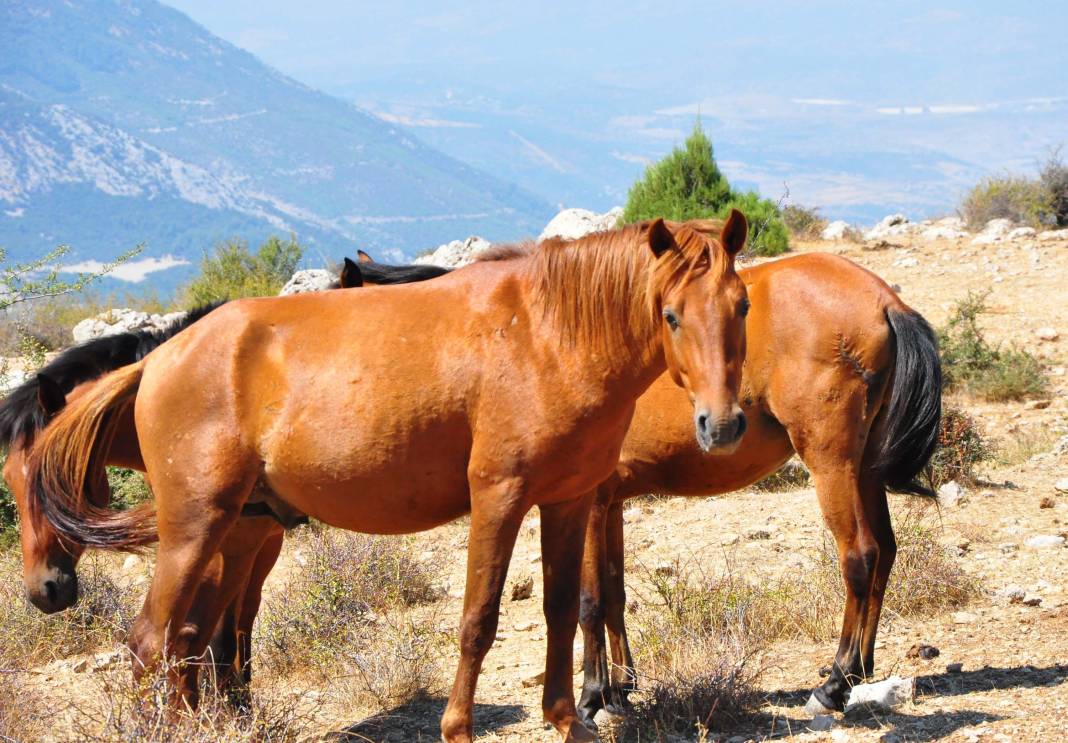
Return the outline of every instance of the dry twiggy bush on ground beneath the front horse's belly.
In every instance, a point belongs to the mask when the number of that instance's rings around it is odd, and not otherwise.
[[[261,612],[257,662],[279,674],[342,680],[381,706],[441,691],[443,634],[431,611],[441,591],[410,542],[302,529],[302,562]]]

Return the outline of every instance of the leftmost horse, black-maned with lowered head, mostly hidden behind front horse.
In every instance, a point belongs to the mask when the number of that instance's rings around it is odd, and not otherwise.
[[[361,262],[365,264],[362,270],[346,258],[342,286],[411,283],[447,272],[436,266],[377,264],[362,251]],[[23,584],[31,603],[46,614],[67,608],[77,600],[76,567],[84,546],[62,539],[47,521],[30,518],[26,459],[34,437],[65,405],[91,390],[100,376],[143,359],[217,306],[218,303],[192,310],[180,321],[162,330],[117,333],[68,348],[0,400],[0,448],[7,450],[3,477],[14,494],[21,523]],[[105,465],[144,471],[132,410],[122,416],[112,444],[100,459],[93,474],[97,484],[93,499],[103,506],[108,501]],[[247,506],[242,509],[242,518],[255,519],[248,522],[249,528],[242,536],[248,547],[248,540],[255,541],[258,535],[260,555],[252,567],[248,587],[226,608],[211,642],[210,658],[217,666],[215,678],[227,686],[236,699],[244,697],[250,680],[249,644],[263,582],[282,546],[282,527],[276,523],[281,519],[269,507],[258,505],[258,508]],[[268,518],[257,518],[264,516]]]

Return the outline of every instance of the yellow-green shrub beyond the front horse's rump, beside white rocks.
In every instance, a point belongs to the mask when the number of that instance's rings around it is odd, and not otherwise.
[[[277,295],[297,269],[303,249],[296,238],[268,238],[252,253],[244,240],[219,244],[201,260],[200,275],[184,289],[189,306],[241,297]]]

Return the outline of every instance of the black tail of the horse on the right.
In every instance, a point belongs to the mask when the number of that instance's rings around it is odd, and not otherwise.
[[[886,407],[886,429],[876,469],[886,488],[933,496],[916,481],[938,446],[942,420],[942,363],[934,331],[918,313],[886,311],[897,360]]]

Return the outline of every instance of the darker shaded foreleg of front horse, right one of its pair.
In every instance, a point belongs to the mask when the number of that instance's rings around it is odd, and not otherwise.
[[[579,720],[571,680],[582,552],[593,500],[591,491],[574,501],[544,505],[539,509],[547,626],[541,710],[565,741],[597,740]]]

